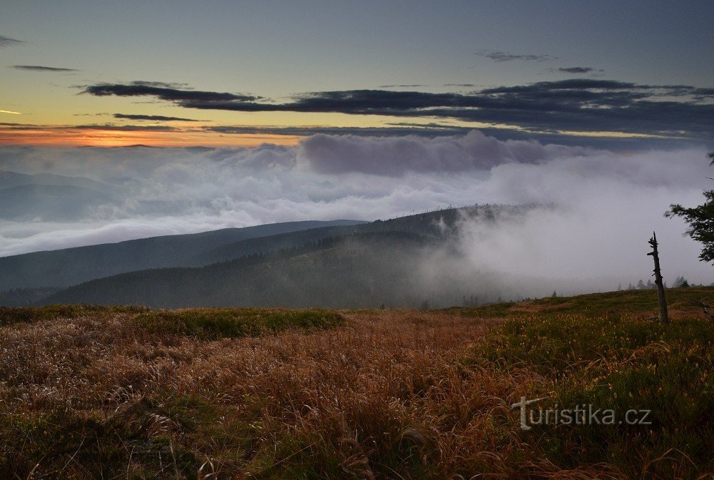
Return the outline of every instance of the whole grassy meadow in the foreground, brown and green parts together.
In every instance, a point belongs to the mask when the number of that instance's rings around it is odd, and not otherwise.
[[[714,479],[714,288],[426,312],[0,307],[4,479]],[[648,424],[521,429],[593,404]],[[618,418],[619,418],[618,417]]]

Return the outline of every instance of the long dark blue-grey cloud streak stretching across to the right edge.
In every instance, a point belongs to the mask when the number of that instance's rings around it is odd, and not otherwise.
[[[156,96],[184,108],[242,112],[293,111],[393,117],[453,118],[533,132],[610,131],[689,139],[714,132],[713,88],[653,86],[571,78],[469,93],[348,90],[302,93],[276,103],[255,96],[144,85],[101,84],[97,96]]]

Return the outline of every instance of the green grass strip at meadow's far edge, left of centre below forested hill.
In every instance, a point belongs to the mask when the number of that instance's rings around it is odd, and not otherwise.
[[[199,339],[256,337],[289,328],[329,328],[346,322],[341,314],[331,310],[277,308],[151,310],[137,315],[134,321],[152,333],[190,335]]]

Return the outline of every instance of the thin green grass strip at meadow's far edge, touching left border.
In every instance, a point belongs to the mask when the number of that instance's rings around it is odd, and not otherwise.
[[[90,315],[146,312],[147,307],[104,305],[46,305],[44,307],[0,307],[0,327],[21,322],[77,318]]]

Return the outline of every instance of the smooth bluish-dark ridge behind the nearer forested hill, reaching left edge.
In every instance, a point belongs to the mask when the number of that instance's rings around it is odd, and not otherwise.
[[[321,228],[341,226],[350,228],[358,223],[362,222],[333,220],[273,223],[0,257],[0,290],[69,287],[88,280],[134,270],[208,265],[213,262],[210,259],[215,257],[211,252],[224,245],[234,245],[231,250],[235,254],[234,257],[220,258],[220,260],[230,260],[254,252],[275,249],[269,241],[261,246],[262,240],[255,240],[253,243],[246,244],[246,250],[243,251],[241,245],[236,245],[236,242],[306,229],[321,230]],[[326,230],[325,233],[317,232],[313,238],[328,235],[333,235],[332,230]]]

